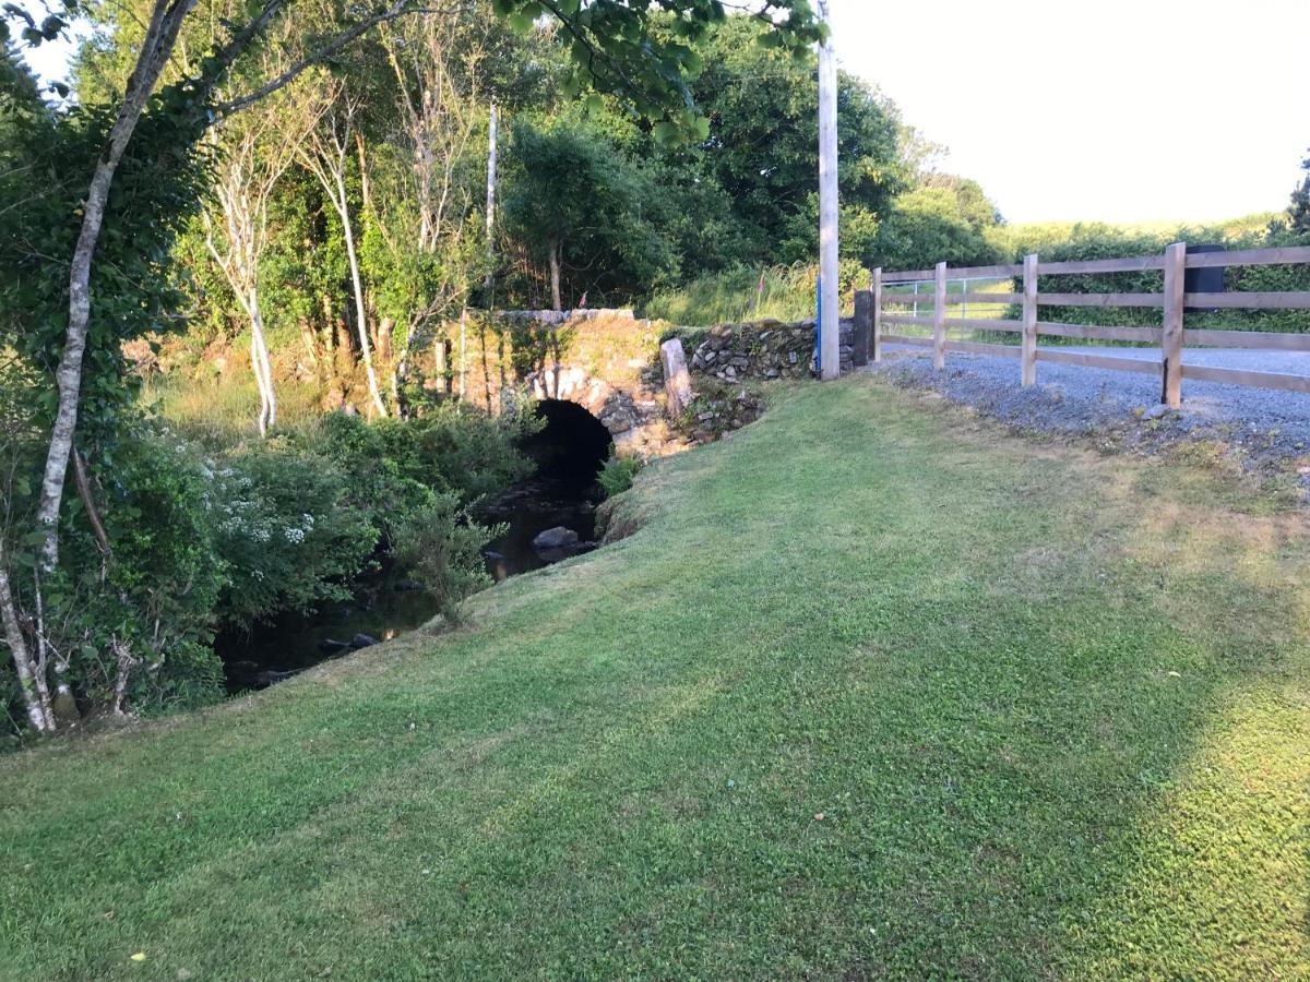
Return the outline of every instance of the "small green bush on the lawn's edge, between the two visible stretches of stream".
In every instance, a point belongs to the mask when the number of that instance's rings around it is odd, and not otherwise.
[[[482,547],[504,534],[503,525],[479,525],[460,504],[458,495],[428,495],[396,533],[396,554],[413,570],[438,610],[455,625],[464,600],[491,585]]]

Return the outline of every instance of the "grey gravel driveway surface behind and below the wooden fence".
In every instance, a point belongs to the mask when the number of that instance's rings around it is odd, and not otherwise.
[[[1060,350],[1159,360],[1153,348]],[[1310,376],[1307,352],[1193,348],[1184,351],[1183,364]],[[1183,409],[1165,412],[1154,374],[1039,363],[1038,384],[1023,389],[1017,359],[947,354],[946,369],[934,372],[929,352],[897,346],[887,346],[884,363],[867,371],[1026,431],[1099,437],[1102,445],[1148,452],[1207,443],[1243,471],[1286,479],[1302,498],[1310,495],[1307,394],[1184,378]]]

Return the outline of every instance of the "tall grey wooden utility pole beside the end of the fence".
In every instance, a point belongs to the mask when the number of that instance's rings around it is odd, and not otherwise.
[[[837,52],[833,50],[829,0],[819,0],[828,38],[819,45],[819,365],[824,381],[841,373],[837,323]]]

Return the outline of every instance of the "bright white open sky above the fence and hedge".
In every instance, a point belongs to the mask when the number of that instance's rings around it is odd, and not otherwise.
[[[831,0],[842,67],[1011,223],[1281,211],[1310,147],[1310,0]]]

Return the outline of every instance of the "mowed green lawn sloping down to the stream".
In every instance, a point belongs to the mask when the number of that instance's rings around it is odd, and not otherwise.
[[[0,761],[0,973],[1310,973],[1302,516],[869,377],[633,494],[457,634]]]

